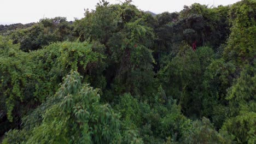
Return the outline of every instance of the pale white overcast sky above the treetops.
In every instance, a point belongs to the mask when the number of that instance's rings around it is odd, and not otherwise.
[[[121,0],[124,1],[124,0]],[[200,3],[218,6],[233,4],[238,0],[133,0],[138,9],[159,14],[164,11],[181,11],[183,5]],[[84,9],[95,9],[98,0],[1,0],[0,24],[38,22],[43,17],[67,17],[74,20],[84,17]],[[111,4],[117,0],[108,0]]]

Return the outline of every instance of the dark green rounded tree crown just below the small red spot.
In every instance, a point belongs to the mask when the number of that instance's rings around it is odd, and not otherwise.
[[[159,72],[160,80],[164,83],[163,86],[165,86],[164,89],[167,95],[178,99],[179,105],[181,105],[184,110],[193,109],[189,107],[189,103],[194,101],[195,98],[193,98],[193,100],[190,94],[195,91],[196,85],[199,83],[199,79],[194,79],[194,77],[199,77],[201,74],[200,67],[198,56],[192,50],[188,49],[174,57],[172,61]]]

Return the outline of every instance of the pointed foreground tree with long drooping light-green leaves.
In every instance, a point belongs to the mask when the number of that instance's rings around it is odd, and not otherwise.
[[[27,132],[27,143],[120,143],[119,115],[100,104],[99,89],[82,84],[81,78],[75,71],[66,76],[59,91],[46,101],[50,105],[40,115],[42,122]],[[14,133],[9,132],[4,143],[14,139]]]

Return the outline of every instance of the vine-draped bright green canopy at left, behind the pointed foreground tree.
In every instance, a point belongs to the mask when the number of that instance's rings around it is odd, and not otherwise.
[[[96,75],[100,68],[104,70],[104,57],[96,52],[102,48],[98,44],[66,42],[25,53],[19,45],[1,37],[1,111],[7,113],[10,122],[15,116],[20,123],[21,116],[56,91],[59,77],[71,69],[91,75],[85,81],[104,88],[104,79]]]

